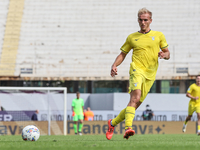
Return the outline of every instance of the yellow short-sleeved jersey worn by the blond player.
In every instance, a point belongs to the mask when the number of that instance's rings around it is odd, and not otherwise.
[[[129,74],[138,72],[149,80],[155,80],[158,52],[167,47],[168,44],[162,32],[150,30],[146,34],[140,32],[130,34],[121,47],[121,51],[126,54],[133,49]]]

